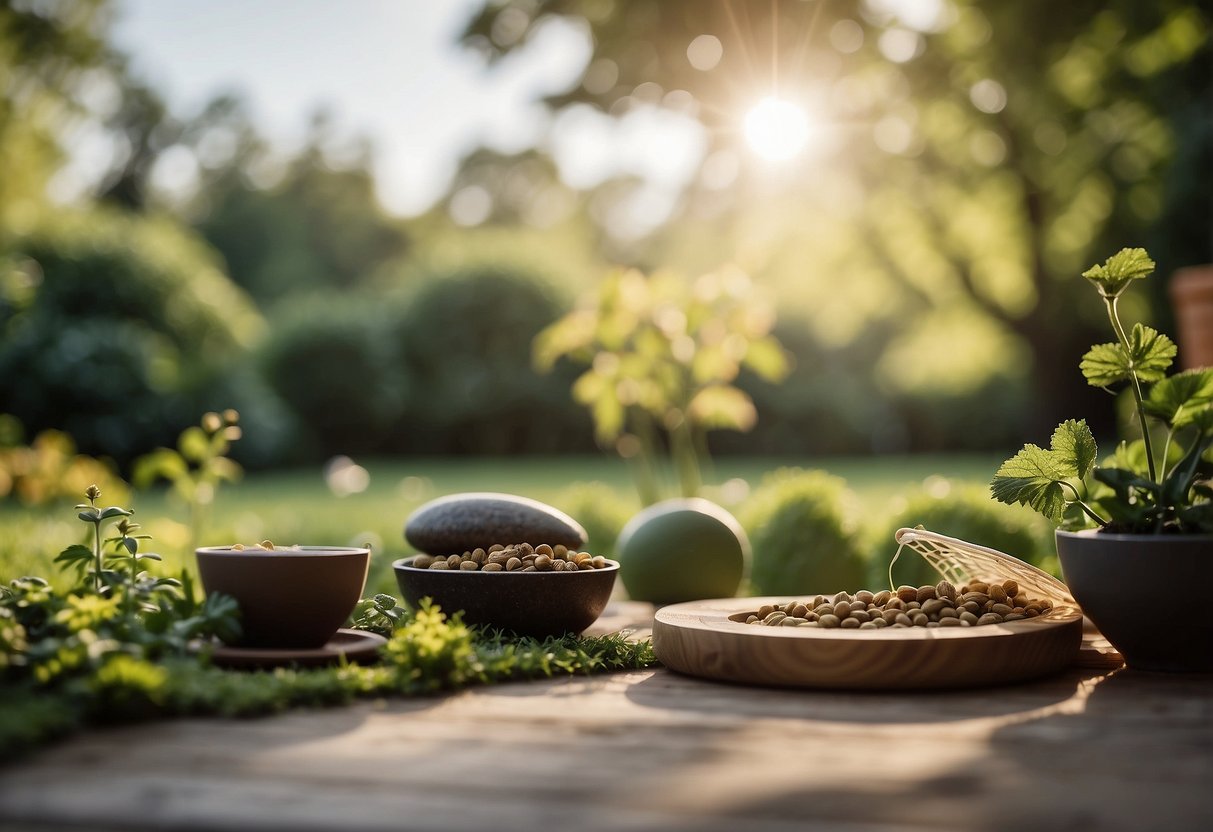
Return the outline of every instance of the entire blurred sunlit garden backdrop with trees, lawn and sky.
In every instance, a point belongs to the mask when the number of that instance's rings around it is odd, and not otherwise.
[[[1149,249],[1123,314],[1173,332],[1213,262],[1209,18],[2,0],[0,576],[52,571],[93,481],[172,566],[397,557],[501,490],[604,553],[701,494],[849,588],[905,524],[1050,568],[985,483],[1063,418],[1116,434],[1083,269]]]

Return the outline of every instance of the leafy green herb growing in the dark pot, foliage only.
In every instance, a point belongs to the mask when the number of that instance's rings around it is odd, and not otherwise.
[[[1067,420],[1048,449],[1025,445],[991,483],[1006,503],[1030,506],[1054,523],[1122,534],[1213,532],[1213,369],[1168,375],[1175,344],[1143,324],[1126,329],[1118,301],[1155,268],[1144,249],[1122,249],[1082,277],[1098,290],[1116,341],[1095,344],[1080,369],[1109,391],[1127,387],[1139,437],[1098,463],[1083,420]]]

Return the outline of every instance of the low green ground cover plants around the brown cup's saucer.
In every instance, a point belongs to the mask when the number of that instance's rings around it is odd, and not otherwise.
[[[388,594],[361,602],[353,625],[387,637],[381,661],[245,673],[210,663],[213,639],[239,634],[235,602],[198,599],[192,574],[148,571],[160,557],[119,506],[90,486],[75,507],[89,543],[56,563],[67,589],[41,577],[0,587],[0,748],[5,757],[89,724],[170,716],[252,716],[359,696],[422,695],[508,679],[640,668],[648,642],[623,634],[516,638],[468,627],[437,606],[403,609]],[[107,536],[109,535],[109,536]]]

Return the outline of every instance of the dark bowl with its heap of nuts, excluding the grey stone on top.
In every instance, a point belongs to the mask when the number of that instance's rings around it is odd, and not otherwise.
[[[563,543],[495,543],[392,564],[404,600],[429,598],[469,625],[546,638],[580,633],[610,600],[619,563]]]

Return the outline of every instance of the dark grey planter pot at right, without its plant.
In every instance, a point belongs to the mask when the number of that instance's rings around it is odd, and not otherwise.
[[[1213,672],[1213,535],[1058,531],[1058,558],[1082,611],[1140,671]]]

